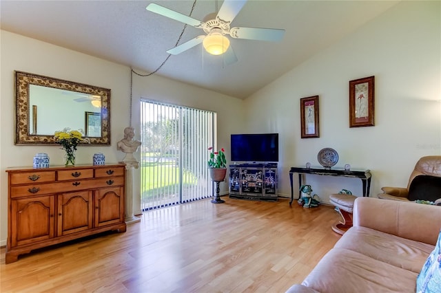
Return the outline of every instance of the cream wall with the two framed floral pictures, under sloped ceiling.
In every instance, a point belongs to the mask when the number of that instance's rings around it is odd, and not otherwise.
[[[370,169],[374,196],[407,186],[418,158],[441,154],[440,11],[440,1],[402,1],[245,100],[250,131],[280,133],[280,193],[290,196],[289,168],[320,166],[325,147],[338,151],[336,167]],[[367,76],[376,126],[349,128],[349,80]],[[300,98],[315,95],[320,138],[301,139]],[[362,194],[358,179],[307,175],[307,183],[324,202],[342,188]]]

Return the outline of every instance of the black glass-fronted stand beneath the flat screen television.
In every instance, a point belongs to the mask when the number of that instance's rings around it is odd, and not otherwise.
[[[229,197],[277,202],[277,163],[229,165]]]

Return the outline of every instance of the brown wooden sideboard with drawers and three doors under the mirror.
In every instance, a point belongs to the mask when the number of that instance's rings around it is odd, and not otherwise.
[[[34,249],[125,232],[125,165],[11,168],[6,263]]]

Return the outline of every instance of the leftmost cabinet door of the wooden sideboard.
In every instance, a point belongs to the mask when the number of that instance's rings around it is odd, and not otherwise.
[[[11,200],[11,247],[54,237],[54,195]]]

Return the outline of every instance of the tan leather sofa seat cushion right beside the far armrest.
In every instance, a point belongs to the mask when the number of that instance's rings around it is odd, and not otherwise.
[[[434,246],[401,238],[366,227],[352,227],[336,243],[336,248],[345,248],[365,254],[417,274]]]

